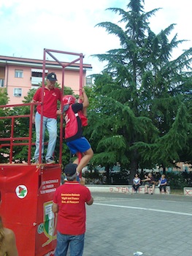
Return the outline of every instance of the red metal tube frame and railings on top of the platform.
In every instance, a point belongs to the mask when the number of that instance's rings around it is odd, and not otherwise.
[[[61,62],[56,58],[53,53],[61,53],[65,55],[71,55],[71,56],[77,56],[77,59],[74,59],[74,61],[71,62]],[[83,86],[83,64],[82,64],[82,59],[84,58],[82,53],[71,53],[67,51],[62,51],[62,50],[51,50],[51,49],[44,49],[43,52],[43,64],[42,64],[42,102],[38,103],[28,103],[28,104],[15,104],[15,105],[0,105],[0,108],[14,108],[14,107],[22,107],[22,106],[30,106],[30,114],[29,115],[23,115],[23,116],[0,116],[1,119],[11,119],[12,125],[11,125],[11,131],[10,131],[10,138],[0,138],[0,143],[1,142],[6,142],[6,143],[1,143],[0,148],[4,146],[9,146],[10,147],[10,152],[9,152],[9,163],[12,163],[12,157],[13,157],[13,147],[14,146],[28,146],[28,159],[27,159],[27,164],[31,165],[31,146],[34,145],[32,143],[32,115],[33,115],[33,110],[34,110],[34,105],[41,105],[41,124],[40,124],[40,139],[39,139],[39,163],[42,163],[42,118],[43,118],[43,103],[44,103],[44,90],[45,90],[45,69],[46,69],[46,54],[48,54],[51,58],[53,58],[61,67],[62,67],[62,80],[61,80],[61,90],[62,94],[64,94],[64,75],[65,75],[65,68],[71,66],[72,64],[75,64],[79,61],[79,67],[80,67],[80,89],[79,89],[79,94],[82,94],[82,86]],[[61,100],[61,110],[63,109],[63,102]],[[16,138],[14,137],[14,122],[16,118],[29,118],[29,134],[28,137],[20,137]],[[59,146],[59,159],[58,163],[61,164],[62,162],[62,144],[63,144],[63,125],[64,125],[64,120],[61,118],[61,123],[60,123],[60,146]],[[26,142],[18,142],[18,140],[26,140]],[[1,163],[0,163],[1,165]]]

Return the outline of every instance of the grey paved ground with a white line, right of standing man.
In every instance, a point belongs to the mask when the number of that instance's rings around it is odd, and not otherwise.
[[[83,256],[192,256],[192,197],[92,195]]]

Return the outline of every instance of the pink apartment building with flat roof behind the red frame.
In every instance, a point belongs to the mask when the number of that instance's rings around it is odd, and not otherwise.
[[[67,64],[67,63],[66,63]],[[7,89],[9,104],[20,104],[30,89],[37,89],[42,82],[43,60],[0,56],[0,89]],[[82,65],[83,85],[86,84],[86,72],[91,64]],[[62,80],[62,67],[56,61],[47,61],[45,75],[55,72],[58,83]],[[65,68],[64,86],[72,88],[75,94],[80,89],[80,64],[74,63]],[[88,80],[88,83],[90,80]]]

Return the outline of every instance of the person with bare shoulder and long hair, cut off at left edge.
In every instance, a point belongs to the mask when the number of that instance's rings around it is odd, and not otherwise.
[[[0,192],[1,205],[1,192]],[[15,233],[3,226],[0,217],[0,256],[18,256],[18,249],[15,241]]]

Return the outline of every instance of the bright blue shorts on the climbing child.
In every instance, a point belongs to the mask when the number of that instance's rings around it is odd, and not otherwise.
[[[66,145],[69,147],[72,154],[76,154],[77,152],[84,153],[89,148],[91,148],[90,143],[85,137],[69,141],[66,143]]]

